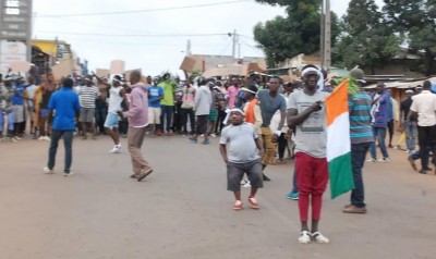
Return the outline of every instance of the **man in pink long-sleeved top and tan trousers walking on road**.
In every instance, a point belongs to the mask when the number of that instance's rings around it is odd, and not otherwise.
[[[133,71],[130,75],[132,92],[129,96],[129,111],[118,111],[120,116],[129,119],[128,143],[132,157],[133,174],[131,178],[141,182],[153,172],[153,168],[145,161],[141,147],[144,143],[146,126],[148,125],[147,87],[141,82],[141,72]]]

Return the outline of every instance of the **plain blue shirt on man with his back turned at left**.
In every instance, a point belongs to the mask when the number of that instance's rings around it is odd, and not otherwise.
[[[55,110],[52,128],[56,131],[72,131],[75,128],[74,119],[81,110],[78,96],[71,88],[62,88],[51,95],[48,108]]]

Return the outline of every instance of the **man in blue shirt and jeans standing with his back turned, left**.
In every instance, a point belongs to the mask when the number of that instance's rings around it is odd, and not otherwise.
[[[55,121],[52,125],[51,143],[48,153],[48,164],[44,169],[47,174],[55,173],[56,152],[58,151],[58,143],[63,137],[65,147],[65,165],[63,170],[64,176],[70,176],[73,172],[70,171],[73,158],[73,132],[75,128],[75,118],[78,115],[81,104],[78,96],[73,91],[74,82],[71,78],[63,81],[63,87],[56,91],[48,104],[50,110],[55,110]]]

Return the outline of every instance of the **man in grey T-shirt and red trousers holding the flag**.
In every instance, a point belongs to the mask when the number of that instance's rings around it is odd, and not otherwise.
[[[328,183],[326,160],[326,111],[324,100],[328,92],[317,90],[318,70],[305,66],[304,87],[289,97],[288,126],[295,127],[295,169],[300,189],[299,210],[301,233],[299,242],[328,243],[318,231],[323,194]],[[312,203],[312,230],[308,231],[308,206]]]

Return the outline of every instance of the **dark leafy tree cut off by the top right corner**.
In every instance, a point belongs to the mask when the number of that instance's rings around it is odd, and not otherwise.
[[[389,24],[410,49],[421,54],[421,71],[436,72],[436,0],[385,0]]]

